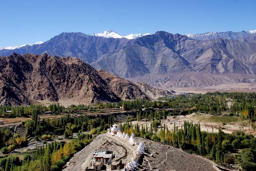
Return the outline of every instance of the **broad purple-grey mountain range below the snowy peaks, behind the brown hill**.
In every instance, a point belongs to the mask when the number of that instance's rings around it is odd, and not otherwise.
[[[2,49],[0,56],[13,52],[75,56],[97,70],[154,87],[255,83],[256,34],[248,34],[239,40],[196,40],[165,31],[136,39],[71,32],[61,33],[42,44]]]

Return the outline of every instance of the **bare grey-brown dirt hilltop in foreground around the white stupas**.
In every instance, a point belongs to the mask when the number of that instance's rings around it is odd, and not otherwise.
[[[135,137],[137,141],[144,143],[145,153],[139,162],[139,170],[149,168],[153,170],[176,170],[176,171],[215,171],[213,164],[204,158],[193,156],[180,149],[163,145],[148,139]],[[66,164],[64,171],[85,170],[91,163],[95,150],[113,150],[115,160],[122,159],[127,164],[128,160],[135,155],[138,145],[132,145],[128,140],[118,136],[101,134],[91,144],[76,153]],[[151,156],[153,154],[153,156]],[[108,169],[108,168],[107,168]],[[123,170],[123,169],[121,169]]]

